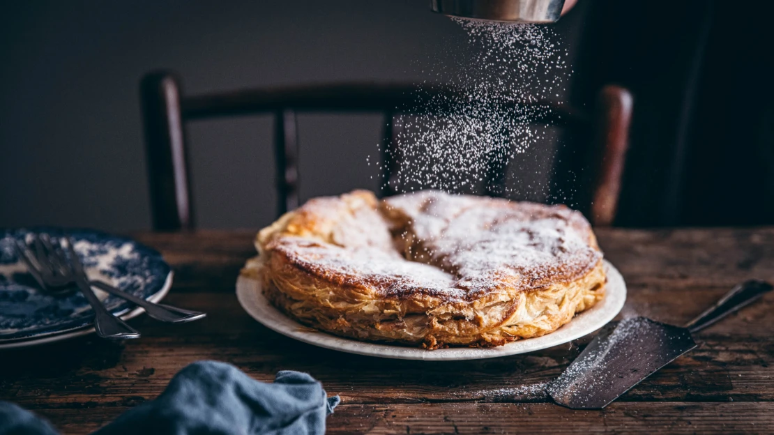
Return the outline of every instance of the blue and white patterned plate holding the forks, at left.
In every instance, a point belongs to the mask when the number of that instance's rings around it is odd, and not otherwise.
[[[52,238],[67,235],[90,279],[101,279],[125,292],[157,302],[172,284],[170,265],[159,252],[136,241],[91,230],[60,228],[0,229],[0,348],[60,340],[94,331],[94,313],[80,292],[43,293],[17,257],[13,244],[31,231]],[[127,319],[142,313],[134,304],[98,289],[108,311]]]

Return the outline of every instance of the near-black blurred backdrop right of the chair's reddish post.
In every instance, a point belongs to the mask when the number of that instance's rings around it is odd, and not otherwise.
[[[580,0],[571,99],[635,96],[616,224],[774,224],[774,2]]]

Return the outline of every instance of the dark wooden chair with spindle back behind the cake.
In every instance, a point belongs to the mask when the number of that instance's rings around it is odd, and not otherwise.
[[[393,119],[403,113],[427,113],[428,98],[454,93],[454,87],[440,84],[322,84],[313,86],[254,89],[218,94],[183,94],[181,80],[168,71],[153,72],[142,78],[140,92],[145,124],[146,150],[152,202],[153,228],[157,231],[179,231],[195,228],[194,204],[191,201],[190,171],[187,163],[187,122],[204,118],[235,115],[273,114],[276,189],[280,214],[299,205],[298,141],[296,113],[378,112],[385,116],[382,135],[381,194],[395,194],[391,175],[398,162],[392,161],[395,140]],[[450,101],[434,98],[433,101]],[[535,122],[564,125],[574,136],[588,138],[584,146],[561,150],[563,170],[584,173],[581,183],[559,190],[577,192],[577,204],[596,225],[610,225],[621,186],[628,127],[632,116],[632,97],[621,87],[602,89],[596,114],[585,115],[550,102],[545,118]],[[437,104],[433,109],[443,110]],[[593,138],[593,139],[592,139]],[[491,165],[487,194],[496,196],[505,183],[505,170]]]

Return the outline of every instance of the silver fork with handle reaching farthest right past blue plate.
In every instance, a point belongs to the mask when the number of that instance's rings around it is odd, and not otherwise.
[[[48,235],[45,235],[45,234],[39,235],[39,237],[34,238],[33,241],[35,242],[34,245],[38,245],[38,244],[43,245],[41,247],[41,248],[45,248],[45,249],[42,249],[43,252],[46,252],[46,251],[51,252],[55,250],[55,248],[53,247],[53,243],[51,242]],[[68,239],[68,245],[71,245],[69,239]],[[26,262],[26,264],[30,269],[35,269],[33,265],[30,265],[29,259],[25,258],[23,252],[22,252],[22,255],[20,256],[22,257],[23,261]],[[55,267],[59,266],[59,264],[57,264],[56,262],[54,262],[53,265]],[[46,293],[50,293],[53,295],[59,295],[61,293],[69,292],[72,290],[72,286],[75,284],[74,281],[68,282],[67,279],[59,279],[56,276],[53,276],[52,277],[53,279],[48,279],[47,280],[48,283],[43,283],[43,279],[36,277],[34,273],[33,273],[33,277],[35,277],[36,281],[38,281],[38,283],[40,284],[40,286],[43,287]],[[118,289],[102,281],[90,280],[88,283],[91,286],[97,287],[98,289],[101,289],[114,296],[118,296],[124,300],[128,300],[129,302],[134,303],[138,307],[142,307],[149,315],[149,317],[152,317],[156,320],[161,320],[163,322],[184,323],[184,322],[190,322],[193,320],[198,320],[207,316],[207,313],[201,313],[200,311],[184,310],[183,308],[173,307],[171,305],[166,305],[164,303],[152,303],[149,300],[144,300],[140,297],[133,295],[132,293],[126,293],[123,290]]]

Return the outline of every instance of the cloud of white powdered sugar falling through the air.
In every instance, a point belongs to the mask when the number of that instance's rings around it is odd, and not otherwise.
[[[426,81],[458,91],[429,98],[432,116],[396,119],[396,143],[387,152],[400,166],[382,180],[393,190],[474,191],[493,163],[507,167],[546,139],[547,128],[538,122],[550,109],[538,103],[557,101],[564,91],[566,50],[550,27],[453,19],[468,35],[467,50],[450,52],[454,70],[462,72],[448,77],[449,69],[438,67],[423,73],[431,76]]]

